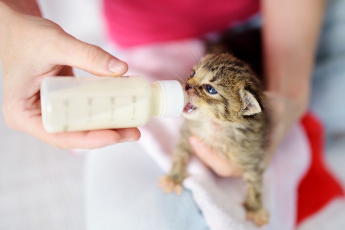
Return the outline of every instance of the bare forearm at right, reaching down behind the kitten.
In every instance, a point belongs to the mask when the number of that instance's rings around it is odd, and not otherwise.
[[[273,114],[269,159],[306,112],[325,0],[262,0],[264,68]]]

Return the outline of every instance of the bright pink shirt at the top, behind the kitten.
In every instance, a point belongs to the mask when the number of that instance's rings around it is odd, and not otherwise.
[[[258,10],[258,0],[104,0],[108,35],[122,47],[221,31]]]

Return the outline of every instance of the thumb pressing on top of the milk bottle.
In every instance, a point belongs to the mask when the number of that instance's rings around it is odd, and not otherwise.
[[[97,76],[122,76],[127,72],[127,63],[98,46],[69,34],[59,40],[56,64],[77,67]]]

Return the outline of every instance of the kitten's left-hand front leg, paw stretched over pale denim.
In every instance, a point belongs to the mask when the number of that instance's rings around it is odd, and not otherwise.
[[[175,192],[177,195],[182,194],[182,182],[187,177],[187,164],[191,157],[192,150],[188,143],[188,138],[181,140],[173,154],[173,165],[166,176],[159,180],[159,187],[165,193]]]

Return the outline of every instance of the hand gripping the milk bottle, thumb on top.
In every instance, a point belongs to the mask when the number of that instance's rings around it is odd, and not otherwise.
[[[1,2],[0,2],[1,3]],[[71,66],[97,76],[120,76],[127,64],[84,43],[47,19],[0,4],[2,111],[6,124],[59,148],[98,148],[138,140],[137,128],[47,133],[42,127],[40,83],[44,77],[73,75]]]

